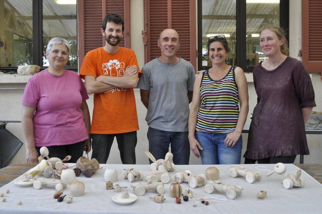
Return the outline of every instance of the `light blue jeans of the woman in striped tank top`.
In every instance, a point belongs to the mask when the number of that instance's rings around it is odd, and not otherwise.
[[[242,136],[234,147],[225,146],[227,134],[195,131],[194,137],[203,150],[199,150],[202,164],[240,164],[242,156]]]

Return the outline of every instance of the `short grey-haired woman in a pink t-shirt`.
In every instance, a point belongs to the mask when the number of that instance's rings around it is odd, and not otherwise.
[[[27,162],[38,162],[40,148],[46,146],[49,157],[76,163],[84,148],[90,151],[89,98],[80,76],[64,69],[71,47],[60,37],[47,44],[47,69],[28,81],[22,99],[21,123]]]

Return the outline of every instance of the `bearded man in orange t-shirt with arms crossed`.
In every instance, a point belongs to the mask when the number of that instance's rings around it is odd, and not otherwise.
[[[133,88],[142,73],[134,51],[118,46],[124,35],[122,17],[107,15],[101,33],[105,46],[85,55],[80,72],[87,93],[94,93],[92,158],[106,163],[116,137],[122,163],[135,164],[139,127]]]

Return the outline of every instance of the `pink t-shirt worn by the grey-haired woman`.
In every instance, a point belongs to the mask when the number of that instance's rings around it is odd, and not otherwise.
[[[79,75],[65,69],[61,76],[47,69],[28,81],[21,101],[36,106],[33,117],[35,146],[67,145],[84,141],[88,133],[80,105],[88,99]]]

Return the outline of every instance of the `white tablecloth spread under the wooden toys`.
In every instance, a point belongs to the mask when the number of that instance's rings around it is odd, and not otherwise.
[[[73,166],[74,164],[69,164]],[[226,202],[213,202],[212,199],[208,199],[210,202],[208,206],[202,203],[198,203],[197,207],[193,206],[192,199],[189,199],[188,203],[182,202],[176,204],[175,199],[169,195],[169,186],[171,182],[174,182],[174,175],[178,171],[170,172],[170,182],[165,184],[166,192],[164,193],[166,200],[163,203],[155,203],[153,199],[149,199],[150,196],[155,196],[156,191],[146,192],[143,196],[138,196],[137,201],[129,205],[119,205],[112,201],[112,196],[118,194],[114,190],[106,190],[106,183],[104,180],[104,172],[107,168],[116,169],[118,171],[118,181],[115,184],[121,186],[127,186],[129,193],[134,193],[130,185],[133,183],[124,180],[121,177],[121,171],[126,168],[134,168],[137,171],[143,171],[144,175],[150,171],[149,165],[118,165],[118,164],[101,164],[103,169],[98,170],[93,174],[91,178],[86,178],[81,174],[80,177],[76,177],[77,180],[82,181],[85,184],[85,194],[80,197],[74,197],[71,204],[66,203],[66,199],[71,196],[70,188],[64,190],[65,197],[63,202],[53,201],[53,194],[55,189],[43,187],[40,190],[36,190],[31,187],[19,187],[14,184],[14,181],[0,188],[0,193],[4,193],[6,202],[0,201],[0,213],[321,213],[322,212],[322,185],[315,179],[309,176],[306,172],[302,171],[301,178],[306,181],[306,186],[303,188],[293,187],[292,189],[284,189],[281,179],[282,175],[274,174],[270,177],[266,177],[267,172],[260,171],[262,174],[261,181],[255,181],[250,184],[244,177],[231,178],[229,176],[230,165],[214,165],[220,170],[219,180],[225,184],[236,185],[243,187],[242,195],[237,196],[235,199],[228,199]],[[236,165],[237,166],[237,165]],[[265,166],[269,170],[274,169],[274,164],[250,164],[250,165],[238,165],[245,166],[250,171],[258,171],[254,167]],[[209,165],[178,165],[176,169],[179,171],[190,170],[196,172],[196,176],[204,172]],[[286,164],[286,174],[296,174],[298,167],[293,164]],[[17,178],[16,180],[20,180]],[[52,177],[53,179],[53,177]],[[134,182],[146,183],[143,181],[135,180]],[[209,182],[209,181],[208,181]],[[182,183],[182,189],[191,189],[194,193],[204,193],[204,186],[192,189],[188,183]],[[10,190],[6,194],[6,190]],[[256,195],[259,190],[267,191],[266,199],[257,199]],[[124,189],[122,189],[124,191]],[[51,193],[49,193],[51,192]],[[22,195],[17,196],[14,194],[26,194],[36,193],[39,195],[49,193],[46,196],[37,195]],[[226,197],[226,194],[214,192],[212,195],[221,195]],[[18,198],[13,198],[14,196]],[[52,197],[52,198],[45,198]],[[198,198],[205,197],[205,195],[198,195]],[[33,199],[42,198],[42,199]],[[227,198],[227,197],[226,197]],[[2,199],[2,198],[0,198]],[[181,197],[182,199],[182,197]],[[17,201],[21,200],[22,205],[18,205]],[[29,201],[38,201],[42,203],[49,202],[47,204],[30,203]],[[191,203],[189,203],[191,202]],[[29,205],[31,207],[25,206]],[[42,209],[49,208],[49,209]],[[52,209],[54,208],[54,209]]]

